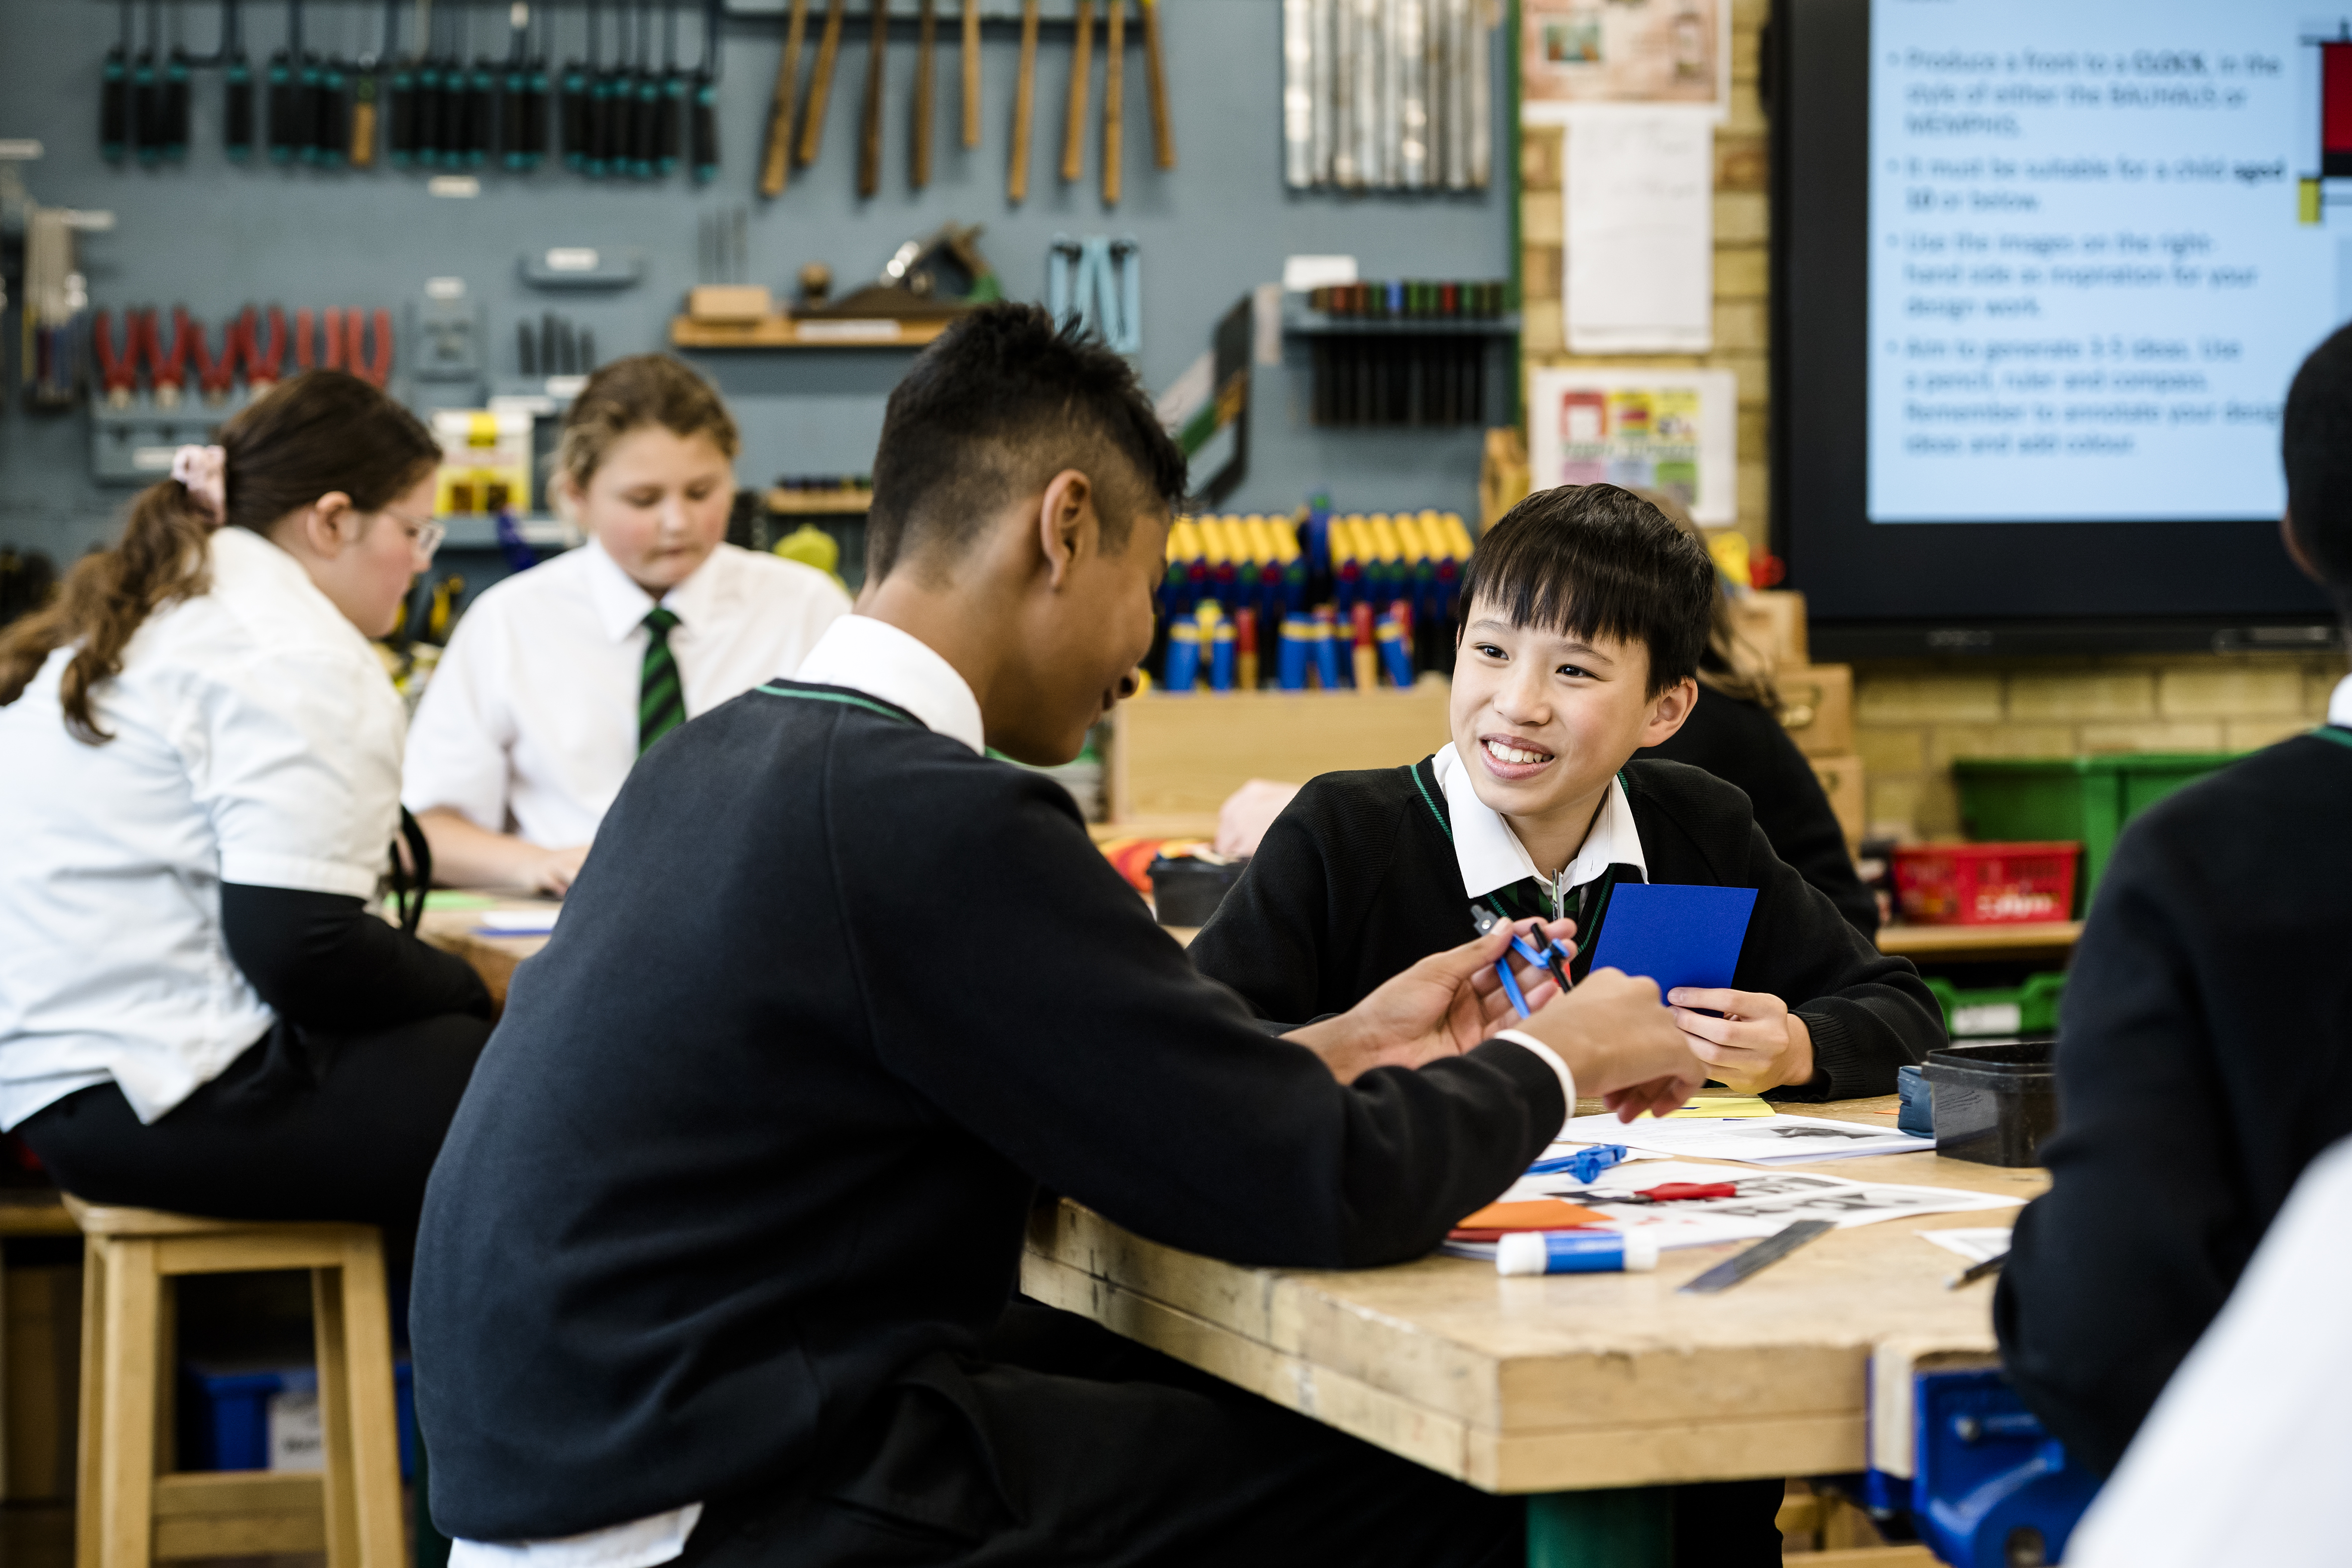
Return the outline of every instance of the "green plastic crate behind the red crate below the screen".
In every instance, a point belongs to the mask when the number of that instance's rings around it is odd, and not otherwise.
[[[1971,839],[2082,844],[2082,870],[2074,877],[2074,917],[2082,919],[2124,823],[2239,757],[2241,752],[1971,757],[1952,764],[1952,783],[1959,785],[1959,823]]]

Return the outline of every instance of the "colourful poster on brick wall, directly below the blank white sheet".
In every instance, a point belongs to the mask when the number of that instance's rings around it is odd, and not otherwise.
[[[1656,489],[1693,522],[1729,527],[1740,510],[1738,400],[1726,369],[1538,369],[1526,402],[1534,487]]]

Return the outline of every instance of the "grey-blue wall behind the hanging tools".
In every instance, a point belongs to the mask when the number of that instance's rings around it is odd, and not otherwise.
[[[449,0],[442,0],[445,5]],[[774,2],[774,0],[769,0]],[[141,14],[143,14],[141,5]],[[179,0],[165,12],[181,9]],[[435,7],[440,9],[440,7]],[[604,7],[607,14],[612,7]],[[691,9],[691,7],[689,7]],[[990,0],[990,9],[997,9]],[[823,158],[800,169],[776,202],[753,195],[757,141],[781,49],[781,19],[736,19],[724,31],[722,169],[708,188],[682,176],[663,183],[588,183],[562,169],[532,176],[482,174],[477,200],[426,195],[421,174],[238,169],[219,148],[221,85],[195,85],[195,141],[186,167],[108,167],[96,155],[99,61],[113,40],[111,0],[0,0],[0,136],[38,136],[47,158],[28,165],[33,197],[49,207],[106,207],[111,235],[82,247],[96,306],[186,303],[216,322],[247,301],[294,306],[400,306],[426,277],[461,275],[489,303],[494,371],[510,374],[513,324],[557,308],[590,324],[604,357],[659,348],[680,294],[696,277],[696,219],[748,202],[753,282],[788,292],[804,261],[833,266],[840,284],[870,277],[906,237],[938,223],[985,223],[981,240],[1014,296],[1044,294],[1044,254],[1056,233],[1129,233],[1143,242],[1143,378],[1157,390],[1207,348],[1209,327],[1254,284],[1279,275],[1294,252],[1355,254],[1369,277],[1503,277],[1510,270],[1505,155],[1498,183],[1465,195],[1294,195],[1282,188],[1279,0],[1164,0],[1167,73],[1178,169],[1150,167],[1143,52],[1127,56],[1127,200],[1101,202],[1098,129],[1089,136],[1087,181],[1056,179],[1068,89],[1068,35],[1047,35],[1037,68],[1037,127],[1030,200],[1004,197],[1016,38],[993,28],[983,47],[983,141],[957,146],[955,26],[938,54],[938,141],[934,183],[908,190],[906,129],[915,45],[889,54],[891,94],[882,195],[861,202],[856,183],[858,106],[866,75],[863,5],[851,7],[842,42]],[[191,52],[214,47],[219,7],[188,0]],[[247,52],[275,49],[282,5],[247,5]],[[358,52],[381,38],[381,5],[306,7],[313,45]],[[402,0],[402,12],[412,5]],[[492,24],[503,54],[503,5],[477,7],[477,40]],[[1047,14],[1068,16],[1068,0]],[[609,28],[609,21],[607,21]],[[1129,33],[1138,28],[1129,24]],[[365,38],[362,38],[365,35]],[[576,52],[581,9],[557,7],[557,59]],[[811,45],[814,45],[811,19]],[[696,38],[691,21],[682,38]],[[607,33],[609,40],[609,33]],[[609,42],[607,42],[609,47]],[[814,52],[814,49],[811,49]],[[1496,80],[1503,38],[1496,35]],[[1096,28],[1094,113],[1101,120],[1101,21]],[[1501,99],[1501,94],[1498,94]],[[1496,106],[1494,146],[1515,146]],[[515,273],[517,256],[550,244],[642,247],[647,280],[621,294],[548,294]],[[9,386],[16,378],[9,315]],[[402,343],[402,350],[409,346]],[[706,353],[694,355],[724,388],[741,418],[739,475],[764,484],[779,473],[861,473],[870,465],[882,400],[903,371],[903,350]],[[1505,378],[1496,378],[1501,386]],[[1477,501],[1475,430],[1315,430],[1305,418],[1305,355],[1291,346],[1282,369],[1261,369],[1251,423],[1251,473],[1228,505],[1291,508],[1329,489],[1341,505],[1388,510],[1437,505],[1470,512]],[[31,414],[16,397],[0,414],[0,543],[66,557],[103,538],[127,491],[87,475],[87,416]]]

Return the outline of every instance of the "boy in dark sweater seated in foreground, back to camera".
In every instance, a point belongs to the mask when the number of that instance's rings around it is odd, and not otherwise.
[[[1007,1309],[1040,1185],[1190,1251],[1395,1262],[1576,1093],[1698,1081],[1644,980],[1501,1027],[1508,936],[1270,1039],[983,755],[1073,757],[1131,679],[1181,487],[1115,355],[964,317],[891,393],[856,614],[630,773],[426,1199],[452,1568],[1524,1549],[1512,1497]]]

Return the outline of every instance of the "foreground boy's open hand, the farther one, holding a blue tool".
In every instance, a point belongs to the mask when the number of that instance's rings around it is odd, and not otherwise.
[[[1461,947],[1432,952],[1338,1018],[1291,1030],[1284,1039],[1324,1058],[1331,1077],[1341,1084],[1352,1084],[1357,1074],[1374,1067],[1421,1067],[1439,1056],[1461,1056],[1482,1039],[1494,1039],[1496,1030],[1519,1023],[1494,966],[1508,952],[1510,936],[1524,933],[1534,924],[1496,926]],[[1576,922],[1550,922],[1545,931],[1566,943],[1576,933]],[[1524,959],[1515,959],[1512,971],[1519,994],[1534,1011],[1541,1011],[1559,992],[1541,969],[1531,969]]]

